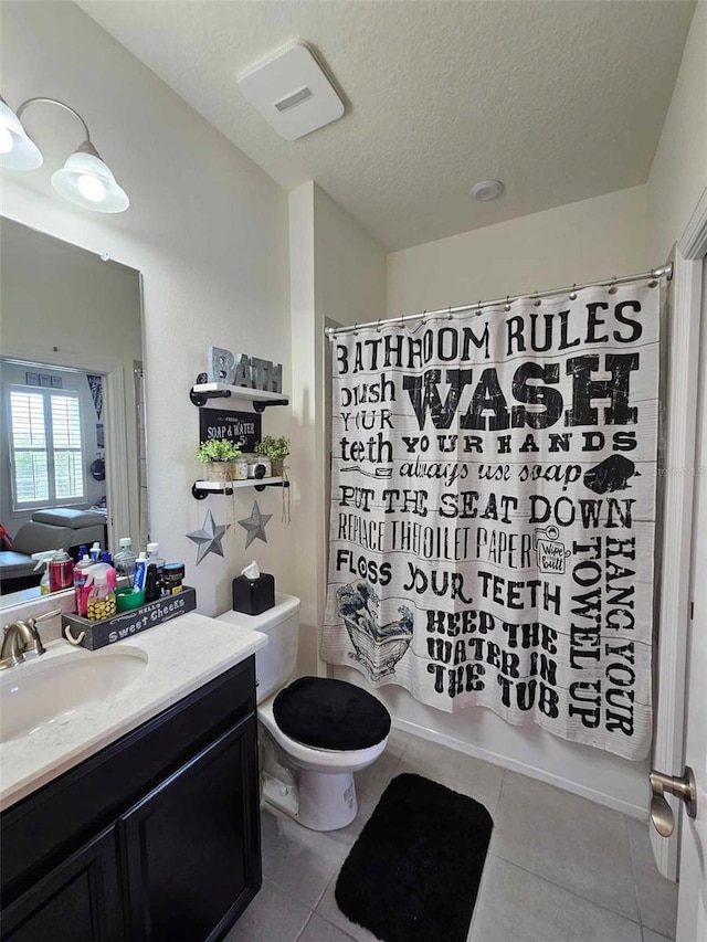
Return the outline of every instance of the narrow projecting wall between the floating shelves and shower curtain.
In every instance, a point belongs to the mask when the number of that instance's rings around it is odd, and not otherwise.
[[[377,319],[386,311],[386,254],[319,187],[289,194],[293,416],[298,451],[292,457],[297,506],[295,568],[302,599],[300,673],[323,673],[317,638],[324,620],[327,564],[329,434],[328,318],[338,324]]]

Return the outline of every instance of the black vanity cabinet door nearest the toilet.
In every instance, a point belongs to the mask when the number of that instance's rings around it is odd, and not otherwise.
[[[261,885],[251,715],[118,822],[131,942],[220,938]]]

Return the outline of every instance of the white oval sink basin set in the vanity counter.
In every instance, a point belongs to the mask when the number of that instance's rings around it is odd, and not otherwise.
[[[147,665],[139,647],[71,650],[0,674],[0,742],[33,735],[119,694]]]

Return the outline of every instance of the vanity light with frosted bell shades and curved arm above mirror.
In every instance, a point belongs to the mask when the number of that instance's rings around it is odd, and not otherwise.
[[[0,98],[0,166],[10,170],[34,170],[42,166],[42,154],[22,127],[20,117],[30,105],[59,105],[83,125],[86,138],[72,154],[61,170],[52,173],[52,187],[65,200],[86,210],[99,213],[120,213],[130,201],[118,186],[113,171],[104,163],[91,142],[85,120],[63,102],[55,98],[29,98],[14,114]]]

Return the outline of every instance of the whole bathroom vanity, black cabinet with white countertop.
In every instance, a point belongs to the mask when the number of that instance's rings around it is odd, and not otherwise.
[[[3,729],[2,940],[217,940],[260,888],[254,653],[266,638],[189,614],[136,642],[102,649],[106,690],[116,664],[133,671],[115,694]],[[0,679],[19,687],[38,665],[50,687],[67,669],[81,687],[101,673],[102,652],[67,647]]]

